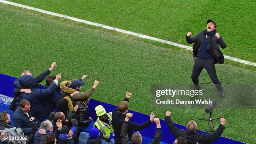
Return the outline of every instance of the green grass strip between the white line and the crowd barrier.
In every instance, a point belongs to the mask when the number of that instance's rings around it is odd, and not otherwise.
[[[58,67],[53,74],[62,72],[62,80],[88,74],[83,91],[91,87],[95,79],[100,82],[92,98],[116,105],[129,91],[133,93],[130,109],[144,114],[154,111],[159,118],[164,118],[164,112],[169,109],[151,108],[151,84],[191,83],[193,59],[189,52],[166,49],[143,40],[133,40],[1,3],[0,25],[0,72],[3,74],[19,77],[23,70],[28,69],[36,75],[56,61]],[[253,61],[253,55],[247,58]],[[216,65],[216,69],[223,83],[256,82],[254,70],[232,65]],[[200,82],[210,82],[205,70]],[[207,117],[204,109],[171,111],[173,121],[183,125],[190,119]],[[255,113],[256,109],[216,109],[215,116],[227,119],[222,136],[242,142],[255,142]],[[196,122],[199,129],[207,129],[205,122]]]

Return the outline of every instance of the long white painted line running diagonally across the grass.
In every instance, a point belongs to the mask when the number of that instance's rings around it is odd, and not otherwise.
[[[0,2],[8,4],[8,5],[15,5],[17,7],[23,7],[23,8],[26,8],[28,10],[34,10],[34,11],[37,11],[37,12],[46,13],[48,15],[54,15],[56,17],[63,17],[63,18],[69,19],[69,20],[82,22],[82,23],[85,23],[85,24],[88,24],[88,25],[94,25],[94,26],[97,26],[97,27],[102,27],[102,28],[105,28],[105,29],[108,29],[108,30],[115,30],[117,32],[122,32],[122,33],[125,33],[125,34],[128,34],[128,35],[134,35],[136,37],[141,37],[141,38],[145,38],[145,39],[148,39],[148,40],[154,40],[154,41],[157,41],[157,42],[166,43],[166,44],[169,44],[169,45],[174,45],[174,46],[181,47],[181,48],[184,48],[184,49],[187,49],[187,50],[192,50],[192,47],[187,46],[187,45],[182,45],[182,44],[179,44],[179,43],[176,43],[176,42],[171,42],[171,41],[168,41],[168,40],[162,40],[162,39],[159,39],[159,38],[156,38],[156,37],[150,37],[148,35],[143,35],[143,34],[140,34],[140,33],[131,32],[131,31],[127,31],[127,30],[122,30],[122,29],[119,29],[119,28],[110,27],[108,25],[102,25],[102,24],[99,24],[99,23],[90,22],[90,21],[78,19],[78,18],[75,18],[75,17],[70,17],[70,16],[67,16],[67,15],[61,15],[59,13],[49,12],[47,10],[41,10],[39,8],[30,7],[30,6],[27,6],[27,5],[21,5],[21,4],[15,3],[15,2],[9,2],[9,1],[6,1],[6,0],[0,0]],[[240,63],[246,64],[246,65],[256,66],[255,62],[241,60],[241,59],[238,59],[236,57],[230,57],[228,55],[224,55],[224,57],[225,57],[225,59],[233,60],[235,62],[240,62]]]

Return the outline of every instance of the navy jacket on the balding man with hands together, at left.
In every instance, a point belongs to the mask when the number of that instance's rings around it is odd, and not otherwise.
[[[28,114],[29,114],[29,117],[24,112],[22,112],[20,107],[18,107],[13,114],[14,127],[17,127],[17,128],[20,127],[24,132],[24,135],[29,135],[32,130],[32,126],[29,118],[34,117],[38,127],[40,127],[40,124],[41,124],[41,122],[39,122],[36,119],[36,117],[33,115],[32,112],[29,111]]]

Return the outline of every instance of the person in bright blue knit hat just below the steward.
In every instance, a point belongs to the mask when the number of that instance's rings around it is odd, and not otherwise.
[[[89,136],[90,138],[87,139],[87,144],[114,144],[114,138],[111,138],[111,141],[108,143],[104,139],[100,138],[100,131],[99,129],[93,127],[89,129]]]

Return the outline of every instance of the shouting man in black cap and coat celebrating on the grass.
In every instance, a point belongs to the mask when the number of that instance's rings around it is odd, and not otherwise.
[[[224,91],[221,86],[220,80],[217,77],[215,64],[223,64],[224,56],[220,51],[219,45],[222,48],[227,47],[220,34],[216,33],[216,22],[207,20],[206,30],[198,33],[195,37],[190,38],[191,32],[187,32],[186,40],[187,43],[193,45],[193,54],[195,63],[193,66],[191,79],[195,85],[195,90],[200,89],[199,75],[202,69],[205,68],[210,76],[210,79],[215,83],[220,97],[224,97]]]

